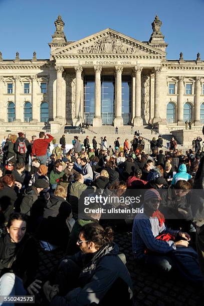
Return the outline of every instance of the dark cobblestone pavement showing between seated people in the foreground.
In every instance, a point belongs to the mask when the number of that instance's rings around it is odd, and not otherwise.
[[[131,237],[131,232],[120,231],[115,232],[114,240],[120,246],[120,251],[126,255],[127,268],[132,276],[134,286],[134,306],[203,305],[199,290],[178,275],[170,278],[168,275],[161,275],[158,271],[135,263]],[[60,249],[51,252],[39,249],[39,253],[41,261],[37,276],[43,276],[50,272],[64,254]]]

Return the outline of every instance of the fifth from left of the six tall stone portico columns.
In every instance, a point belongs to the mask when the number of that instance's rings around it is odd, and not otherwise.
[[[134,67],[134,73],[136,77],[136,86],[135,86],[135,117],[133,120],[134,126],[143,125],[143,120],[141,118],[141,72],[142,68],[140,66]]]

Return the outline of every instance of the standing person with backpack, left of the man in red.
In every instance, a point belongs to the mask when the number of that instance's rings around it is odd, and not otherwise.
[[[27,165],[29,162],[29,154],[31,153],[31,143],[25,137],[23,132],[19,132],[18,135],[19,137],[14,145],[14,151],[17,153],[17,162],[25,163],[25,165]]]

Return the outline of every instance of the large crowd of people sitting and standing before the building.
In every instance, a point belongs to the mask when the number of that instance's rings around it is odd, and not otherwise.
[[[204,129],[203,129],[204,133]],[[153,137],[145,153],[140,133],[120,137],[66,138],[50,149],[53,136],[23,132],[2,141],[0,172],[0,295],[36,295],[50,305],[133,304],[133,286],[114,230],[132,230],[134,260],[161,273],[180,273],[201,286],[204,275],[204,150],[169,149]],[[194,189],[196,193],[194,205]],[[137,204],[121,201],[142,194]],[[117,197],[107,207],[139,208],[122,217],[103,215],[102,203],[85,196]],[[114,211],[116,211],[114,210]],[[133,211],[133,210],[132,210]],[[61,248],[65,256],[44,278],[36,279],[38,248]],[[176,274],[176,275],[177,275]],[[0,303],[1,305],[2,303]],[[11,303],[14,304],[14,303]]]

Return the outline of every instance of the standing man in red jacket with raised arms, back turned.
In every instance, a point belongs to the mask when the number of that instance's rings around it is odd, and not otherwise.
[[[53,136],[50,134],[45,134],[41,131],[39,133],[39,138],[34,140],[32,145],[32,158],[34,155],[40,160],[41,164],[46,164],[47,161],[47,147],[48,144],[53,140]]]

